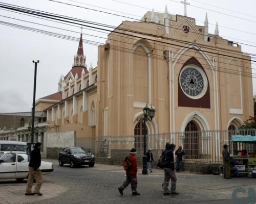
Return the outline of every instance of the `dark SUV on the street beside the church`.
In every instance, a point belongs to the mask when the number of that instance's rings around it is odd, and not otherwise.
[[[59,166],[70,164],[71,168],[78,165],[89,165],[93,167],[95,164],[94,155],[86,152],[81,147],[64,147],[59,152]]]

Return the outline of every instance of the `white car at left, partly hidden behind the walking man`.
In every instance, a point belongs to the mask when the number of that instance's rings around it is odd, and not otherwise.
[[[16,179],[23,181],[28,178],[28,155],[24,151],[0,151],[0,179]],[[41,161],[42,174],[53,171],[51,162]]]

